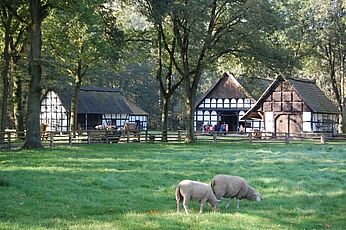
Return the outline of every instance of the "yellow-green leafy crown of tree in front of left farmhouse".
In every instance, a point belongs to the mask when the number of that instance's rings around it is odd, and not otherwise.
[[[43,44],[51,73],[45,85],[51,86],[52,80],[57,86],[66,84],[66,76],[73,77],[71,82],[78,71],[83,76],[90,69],[114,64],[123,39],[115,22],[103,0],[66,1],[54,8],[43,25]]]

